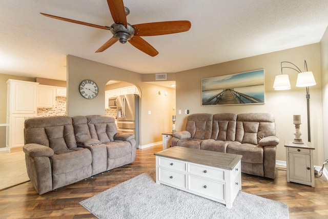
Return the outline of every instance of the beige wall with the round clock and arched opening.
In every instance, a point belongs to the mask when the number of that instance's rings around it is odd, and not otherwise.
[[[105,87],[108,81],[124,81],[135,85],[140,95],[140,145],[161,141],[161,133],[172,130],[172,108],[175,104],[174,89],[142,83],[136,72],[97,63],[76,56],[67,56],[68,115],[105,114]],[[78,92],[83,79],[92,79],[99,87],[98,96],[85,99]],[[169,95],[158,95],[158,90]],[[166,89],[166,90],[165,90]],[[164,97],[165,96],[165,97]],[[148,111],[151,115],[148,115]],[[171,111],[172,110],[172,111]]]

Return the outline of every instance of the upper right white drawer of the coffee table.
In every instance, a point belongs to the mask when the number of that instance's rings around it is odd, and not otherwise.
[[[222,169],[189,163],[188,173],[224,182],[224,170]]]

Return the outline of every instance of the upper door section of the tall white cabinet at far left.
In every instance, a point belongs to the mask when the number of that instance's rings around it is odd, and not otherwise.
[[[9,79],[7,113],[36,113],[36,82]]]

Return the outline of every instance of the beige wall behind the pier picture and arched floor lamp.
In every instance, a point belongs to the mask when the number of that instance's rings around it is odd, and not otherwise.
[[[304,69],[304,59],[308,64],[309,71],[313,71],[317,81],[317,85],[310,88],[311,137],[315,147],[315,165],[322,165],[323,131],[319,43],[176,73],[176,109],[177,112],[178,110],[182,111],[181,115],[177,115],[177,130],[184,130],[186,127],[187,115],[184,114],[185,109],[189,109],[190,113],[272,113],[275,115],[277,135],[280,137],[276,159],[285,161],[284,141],[292,140],[295,137],[293,134],[295,131],[293,114],[301,115],[301,137],[303,141],[308,140],[306,91],[305,88],[295,86],[297,72],[291,69],[284,69],[283,71],[284,74],[288,74],[290,77],[291,90],[275,91],[272,86],[275,76],[281,73],[280,62],[292,62],[302,70]],[[201,106],[201,78],[258,69],[264,69],[265,104]]]

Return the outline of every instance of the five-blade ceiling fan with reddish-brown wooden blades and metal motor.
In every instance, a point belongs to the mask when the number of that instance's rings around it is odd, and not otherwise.
[[[130,10],[124,7],[122,0],[107,0],[107,3],[109,6],[109,10],[112,14],[113,20],[115,22],[110,27],[80,22],[73,19],[58,17],[45,13],[40,14],[47,17],[60,19],[66,22],[110,30],[113,34],[113,37],[110,38],[109,41],[107,41],[103,46],[101,46],[96,52],[103,52],[110,46],[112,46],[114,43],[119,41],[122,44],[129,42],[132,46],[141,50],[142,52],[145,52],[150,56],[155,56],[158,54],[158,51],[140,36],[156,36],[171,33],[180,33],[188,31],[191,27],[190,21],[168,21],[130,25],[129,23],[127,23],[127,15],[129,15]]]

